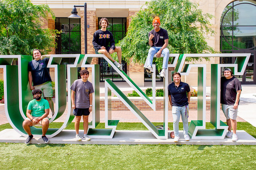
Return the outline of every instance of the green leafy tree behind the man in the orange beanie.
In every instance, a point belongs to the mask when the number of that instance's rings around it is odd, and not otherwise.
[[[214,34],[209,28],[211,14],[203,14],[198,5],[189,0],[151,0],[146,3],[145,9],[132,17],[126,36],[117,44],[121,46],[126,62],[133,57],[134,62],[144,64],[150,48],[148,32],[153,29],[155,16],[160,17],[160,27],[168,31],[170,53],[215,52],[206,42],[206,35]],[[163,58],[155,60],[160,69]]]

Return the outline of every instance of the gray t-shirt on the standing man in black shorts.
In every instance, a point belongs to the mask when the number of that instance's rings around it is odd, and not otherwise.
[[[89,94],[94,92],[93,84],[91,82],[88,80],[86,82],[82,82],[81,79],[77,79],[73,82],[70,89],[75,91],[76,108],[90,107]]]

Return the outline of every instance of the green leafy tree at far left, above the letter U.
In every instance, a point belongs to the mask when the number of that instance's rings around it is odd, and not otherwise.
[[[55,30],[41,28],[41,18],[55,16],[47,5],[33,5],[29,0],[0,1],[0,54],[32,55],[32,49],[48,53],[55,47]]]

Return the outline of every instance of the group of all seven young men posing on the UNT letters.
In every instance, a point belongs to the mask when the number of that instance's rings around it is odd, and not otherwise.
[[[97,30],[93,34],[93,47],[96,54],[104,54],[108,57],[117,68],[122,70],[122,50],[120,47],[115,46],[113,34],[107,30],[109,25],[107,18],[102,18],[99,21],[101,29]],[[160,28],[160,18],[155,17],[153,19],[154,29],[148,33],[148,44],[151,48],[148,51],[148,56],[145,62],[145,71],[148,74],[152,74],[152,62],[153,57],[160,57],[163,54],[163,66],[160,76],[165,78],[165,72],[168,68],[169,60],[169,49],[168,46],[168,32]],[[115,61],[110,54],[113,52],[117,53],[118,62]],[[28,138],[25,143],[29,144],[33,135],[30,127],[34,125],[42,125],[42,139],[45,143],[49,142],[49,139],[45,136],[49,127],[49,109],[54,115],[54,107],[52,101],[52,84],[47,64],[49,62],[50,55],[41,56],[41,51],[38,49],[33,50],[33,57],[35,58],[28,65],[29,71],[29,86],[32,90],[34,99],[29,102],[27,107],[26,116],[27,118],[23,122],[23,128],[28,133]],[[46,57],[46,58],[45,58]],[[233,141],[237,141],[236,135],[236,117],[237,109],[239,105],[239,99],[241,94],[241,83],[240,81],[232,76],[230,68],[224,69],[224,77],[221,77],[221,104],[224,115],[227,118],[228,132],[226,137],[231,137],[231,127],[233,128]],[[92,111],[92,93],[93,85],[87,79],[89,77],[89,71],[80,71],[81,79],[77,79],[71,85],[71,101],[73,114],[76,116],[75,130],[76,140],[80,141],[79,136],[79,123],[81,116],[83,116],[84,134],[82,139],[90,140],[87,135],[88,130],[88,116]],[[183,134],[184,139],[189,141],[188,135],[188,117],[189,117],[189,102],[190,102],[190,88],[185,82],[181,82],[180,73],[172,74],[174,82],[168,86],[169,102],[172,106],[173,116],[173,129],[174,129],[174,141],[179,140],[179,122],[180,116],[183,122]],[[46,99],[44,99],[44,97]]]

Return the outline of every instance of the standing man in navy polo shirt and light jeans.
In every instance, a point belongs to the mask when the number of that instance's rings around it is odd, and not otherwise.
[[[190,101],[190,88],[185,82],[181,82],[180,73],[172,74],[173,83],[168,86],[169,101],[172,106],[173,117],[173,130],[174,130],[174,142],[179,141],[179,122],[180,115],[183,122],[183,134],[186,141],[189,141],[189,101]]]

